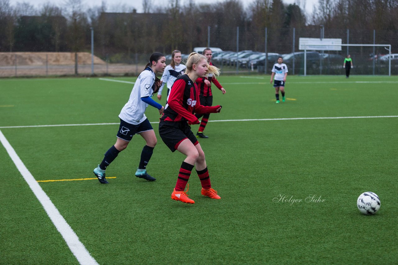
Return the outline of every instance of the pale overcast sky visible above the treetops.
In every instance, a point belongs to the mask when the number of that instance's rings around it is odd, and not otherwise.
[[[250,3],[253,2],[253,0],[240,0],[243,4],[244,7],[246,8]],[[306,13],[311,14],[313,7],[317,5],[318,0],[282,0],[283,3],[285,4],[294,4],[295,2],[298,3],[300,7],[303,7],[303,3],[305,2],[305,9]],[[39,8],[42,4],[46,2],[51,2],[56,4],[57,6],[63,5],[66,0],[10,0],[11,5],[15,5],[17,2],[28,2],[29,4],[35,6],[36,8]],[[87,7],[93,7],[93,6],[101,6],[101,0],[82,0],[82,3],[85,4]],[[118,5],[121,6],[123,4],[126,4],[127,6],[132,6],[135,9],[137,9],[137,12],[142,12],[142,0],[107,0],[107,6],[108,9],[111,9],[111,6],[113,5]],[[152,0],[152,3],[155,5],[159,6],[168,6],[170,0]],[[195,0],[195,3],[203,3],[203,4],[211,4],[215,2],[220,2],[218,0]],[[184,0],[180,0],[181,4],[185,4]],[[112,11],[112,10],[109,10]]]

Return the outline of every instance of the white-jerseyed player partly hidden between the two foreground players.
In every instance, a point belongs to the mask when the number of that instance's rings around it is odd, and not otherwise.
[[[167,95],[170,93],[170,88],[176,81],[179,75],[183,75],[185,72],[185,65],[181,64],[181,52],[179,50],[174,50],[172,53],[172,62],[164,68],[164,72],[162,78],[162,86],[158,91],[158,99],[162,99],[162,90],[164,87],[164,83],[167,83]]]

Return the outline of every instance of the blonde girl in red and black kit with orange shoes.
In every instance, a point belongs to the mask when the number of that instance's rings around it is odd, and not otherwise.
[[[159,123],[159,135],[169,149],[174,152],[178,150],[187,157],[179,169],[176,187],[172,193],[172,199],[184,203],[195,203],[189,199],[185,186],[188,183],[189,176],[193,167],[202,184],[201,194],[212,199],[220,199],[213,188],[211,188],[209,171],[207,170],[205,153],[197,141],[195,135],[188,126],[199,124],[199,120],[194,113],[216,113],[220,112],[221,106],[202,106],[199,100],[199,93],[195,80],[199,77],[213,74],[219,75],[220,72],[215,66],[209,66],[206,57],[192,52],[189,54],[187,69],[184,75],[180,75],[173,84],[162,118]]]

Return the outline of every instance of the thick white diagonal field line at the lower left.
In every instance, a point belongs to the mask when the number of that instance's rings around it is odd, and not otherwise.
[[[12,161],[20,171],[21,175],[29,185],[29,188],[36,195],[37,199],[41,205],[43,205],[44,210],[47,215],[50,217],[51,221],[60,232],[62,237],[64,238],[66,244],[72,251],[73,255],[76,257],[80,264],[98,264],[97,261],[88,253],[86,247],[80,242],[78,236],[69,226],[69,224],[65,221],[64,217],[59,213],[57,207],[53,204],[47,194],[43,191],[40,185],[37,183],[35,178],[26,168],[25,164],[21,161],[20,157],[18,157],[14,148],[10,145],[4,134],[0,131],[0,141],[3,146],[6,148],[8,155],[10,155]]]

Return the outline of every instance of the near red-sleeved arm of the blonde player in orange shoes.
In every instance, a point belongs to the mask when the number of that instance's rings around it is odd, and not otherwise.
[[[170,90],[168,104],[175,112],[183,116],[191,124],[199,124],[199,120],[191,112],[182,106],[184,98],[185,81],[178,79],[173,84],[173,89]]]

